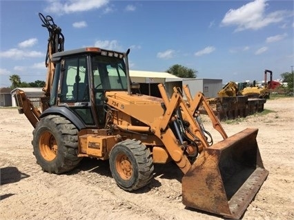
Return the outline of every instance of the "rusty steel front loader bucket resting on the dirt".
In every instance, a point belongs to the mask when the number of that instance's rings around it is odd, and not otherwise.
[[[239,219],[268,176],[257,146],[258,129],[247,128],[204,148],[182,179],[185,206]]]

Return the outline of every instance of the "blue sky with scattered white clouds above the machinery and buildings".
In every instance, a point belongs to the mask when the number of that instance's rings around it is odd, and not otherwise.
[[[164,72],[174,64],[197,78],[262,81],[294,66],[293,1],[0,0],[0,87],[9,76],[46,80],[50,15],[65,36],[65,50],[97,46],[126,51],[131,70]]]

